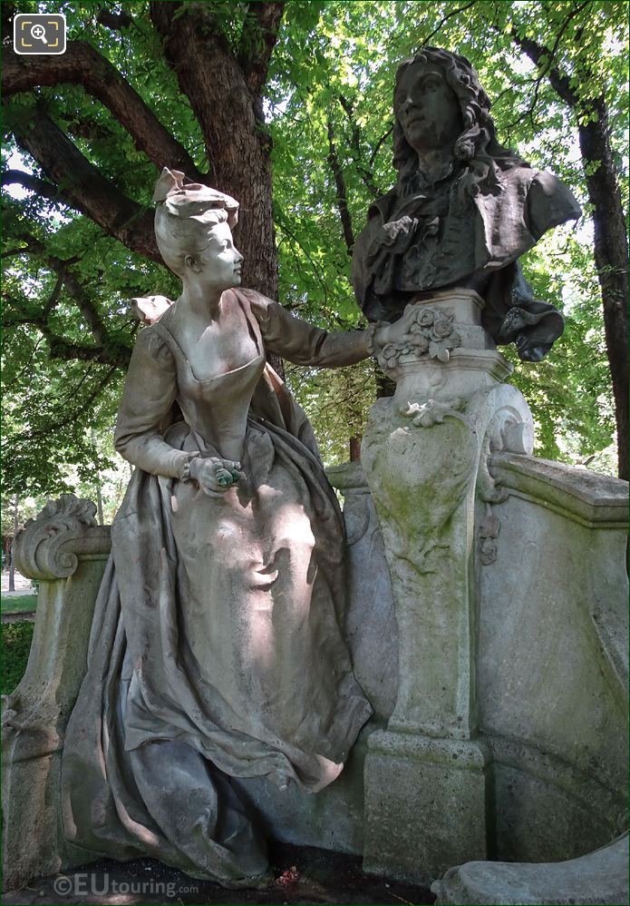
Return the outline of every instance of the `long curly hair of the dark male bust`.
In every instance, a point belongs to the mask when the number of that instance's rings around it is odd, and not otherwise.
[[[517,154],[497,142],[494,120],[490,116],[489,97],[479,82],[479,76],[465,56],[451,54],[437,47],[423,47],[422,51],[403,60],[396,71],[394,86],[393,165],[398,170],[398,182],[403,191],[412,182],[418,169],[418,155],[407,142],[402,125],[396,115],[396,91],[402,75],[409,66],[431,63],[444,74],[447,84],[460,102],[464,130],[454,147],[456,160],[467,164],[467,172],[459,184],[460,200],[485,189],[495,194],[501,192],[499,170],[516,165],[528,166]]]

